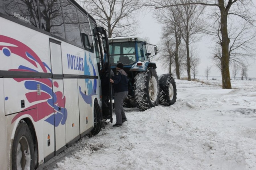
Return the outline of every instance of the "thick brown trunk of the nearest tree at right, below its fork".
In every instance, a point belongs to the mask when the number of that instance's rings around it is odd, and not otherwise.
[[[220,19],[220,32],[222,36],[221,48],[222,48],[222,57],[221,57],[221,75],[222,75],[222,88],[231,89],[230,81],[230,72],[229,72],[229,43],[230,39],[228,38],[228,26],[227,26],[227,16],[228,11],[221,12]]]

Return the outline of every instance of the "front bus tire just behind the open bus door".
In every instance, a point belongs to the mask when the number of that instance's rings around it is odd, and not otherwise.
[[[100,114],[100,106],[97,101],[94,102],[93,107],[93,129],[92,135],[97,135],[102,128],[102,116]]]

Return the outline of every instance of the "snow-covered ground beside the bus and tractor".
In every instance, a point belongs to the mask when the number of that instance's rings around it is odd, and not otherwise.
[[[177,102],[106,124],[41,169],[256,169],[256,81],[176,80]],[[113,115],[115,123],[115,115]]]

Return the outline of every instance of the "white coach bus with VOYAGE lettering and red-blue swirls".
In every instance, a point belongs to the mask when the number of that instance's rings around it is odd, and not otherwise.
[[[73,0],[0,0],[0,23],[0,169],[36,169],[100,131],[106,30]]]

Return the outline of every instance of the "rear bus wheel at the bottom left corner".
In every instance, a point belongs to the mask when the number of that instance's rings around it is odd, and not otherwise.
[[[25,122],[20,122],[15,131],[12,148],[12,169],[35,169],[34,143]]]

